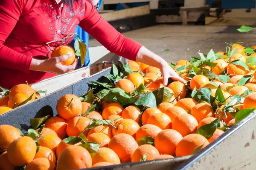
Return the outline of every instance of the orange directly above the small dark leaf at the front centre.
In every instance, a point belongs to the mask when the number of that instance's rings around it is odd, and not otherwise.
[[[143,136],[150,136],[152,138],[156,138],[157,134],[160,133],[162,129],[153,124],[145,124],[140,127],[136,132],[136,141],[142,138]]]

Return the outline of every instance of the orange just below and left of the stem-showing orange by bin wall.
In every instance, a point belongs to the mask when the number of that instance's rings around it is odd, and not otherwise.
[[[55,116],[48,118],[45,122],[45,127],[53,130],[61,139],[67,136],[67,123],[61,117]]]

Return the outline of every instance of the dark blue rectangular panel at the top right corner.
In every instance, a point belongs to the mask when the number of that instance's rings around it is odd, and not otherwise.
[[[255,0],[222,0],[224,9],[255,8]]]

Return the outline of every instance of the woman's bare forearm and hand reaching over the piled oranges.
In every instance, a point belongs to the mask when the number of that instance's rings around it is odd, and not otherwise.
[[[163,58],[155,55],[153,52],[146,49],[144,46],[140,48],[136,61],[145,63],[149,66],[154,66],[160,69],[163,75],[163,85],[168,85],[168,79],[172,78],[176,81],[180,81],[182,83],[186,83],[186,81],[181,78],[177,73],[172,69],[169,64],[163,60]]]

